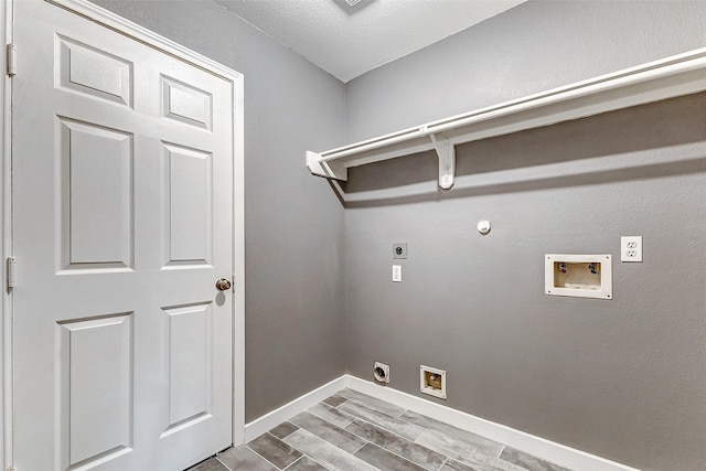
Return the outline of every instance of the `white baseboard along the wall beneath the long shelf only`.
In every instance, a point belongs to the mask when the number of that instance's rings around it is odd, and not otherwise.
[[[480,417],[474,417],[470,414],[466,414],[387,386],[379,386],[375,383],[364,381],[355,376],[345,375],[345,385],[351,389],[393,403],[417,414],[432,417],[460,429],[481,435],[490,438],[491,440],[499,441],[571,470],[639,471],[635,468],[576,450],[541,437],[535,437],[533,435],[525,433],[524,431],[515,430]]]

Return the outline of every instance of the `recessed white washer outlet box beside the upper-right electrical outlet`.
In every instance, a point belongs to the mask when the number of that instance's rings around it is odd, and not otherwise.
[[[544,292],[550,296],[612,299],[612,256],[545,254]]]

